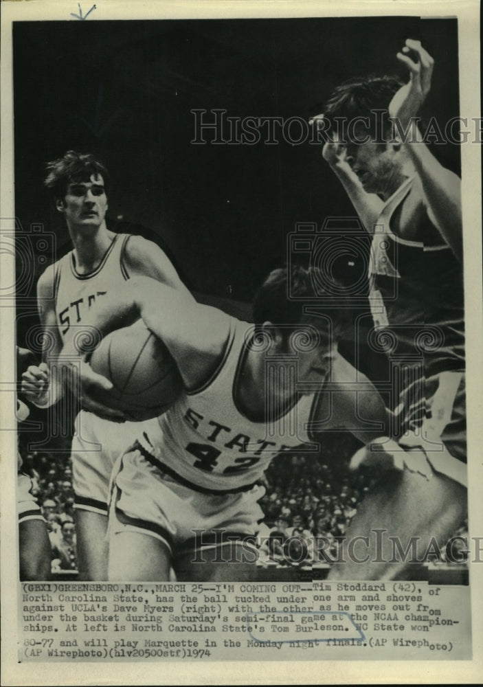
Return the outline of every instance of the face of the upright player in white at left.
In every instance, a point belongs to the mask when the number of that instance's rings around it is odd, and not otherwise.
[[[104,179],[92,174],[89,181],[73,181],[57,208],[65,214],[68,227],[100,227],[107,211]]]

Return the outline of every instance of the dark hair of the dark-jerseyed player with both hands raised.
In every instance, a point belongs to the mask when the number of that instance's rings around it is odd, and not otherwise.
[[[338,131],[335,117],[344,120],[343,133],[346,134],[347,125],[356,117],[367,117],[369,120],[368,133],[390,131],[391,123],[387,111],[389,104],[403,81],[397,76],[366,76],[353,78],[338,86],[328,98],[324,117],[330,122],[330,129]],[[379,114],[376,113],[379,111]],[[382,111],[382,112],[381,112]],[[378,131],[377,118],[382,121],[382,131]],[[379,126],[379,130],[381,126]]]

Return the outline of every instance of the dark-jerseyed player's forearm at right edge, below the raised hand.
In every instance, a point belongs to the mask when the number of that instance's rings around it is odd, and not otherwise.
[[[423,142],[414,125],[414,136],[405,143],[421,180],[428,212],[438,227],[442,238],[453,253],[462,260],[462,212],[461,182],[453,172],[445,169]]]

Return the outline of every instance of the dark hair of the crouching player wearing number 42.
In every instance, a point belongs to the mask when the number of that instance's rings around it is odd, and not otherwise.
[[[304,314],[304,306],[312,302],[317,314],[332,323],[337,335],[346,327],[344,308],[328,307],[328,293],[324,293],[324,278],[317,267],[291,264],[269,273],[258,289],[253,304],[254,323],[260,326],[271,322],[276,326],[297,325]],[[324,307],[325,306],[325,307]]]

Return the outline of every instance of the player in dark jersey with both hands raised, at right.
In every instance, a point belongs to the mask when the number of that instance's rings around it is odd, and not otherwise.
[[[398,444],[381,438],[352,464],[398,468],[372,491],[347,532],[350,541],[385,530],[379,541],[370,535],[380,561],[335,565],[334,578],[410,577],[409,560],[387,564],[393,548],[388,537],[398,537],[404,548],[419,537],[411,558],[421,560],[431,537],[442,545],[453,534],[467,501],[460,179],[441,166],[418,130],[434,60],[411,39],[397,58],[409,70],[407,84],[390,77],[352,80],[335,90],[317,117],[330,124],[359,122],[344,144],[337,137],[328,141],[323,156],[374,234],[374,332],[392,339],[402,390],[394,403]]]

